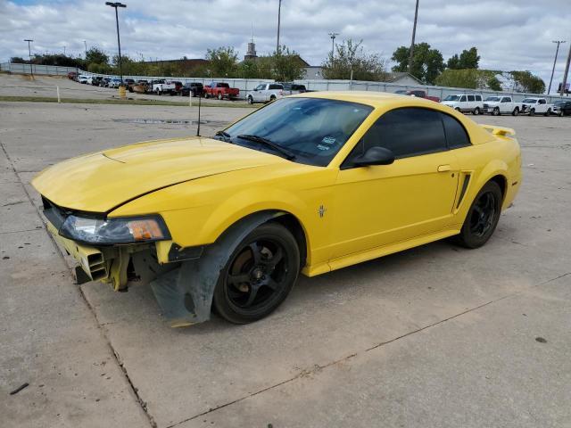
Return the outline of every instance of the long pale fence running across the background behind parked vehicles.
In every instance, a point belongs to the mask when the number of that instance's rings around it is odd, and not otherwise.
[[[0,70],[11,71],[12,73],[29,74],[29,64],[12,64],[9,62],[4,62],[0,64]],[[85,74],[87,76],[103,76],[103,77],[115,77],[108,76],[104,74],[90,73],[88,71],[76,69],[74,67],[59,67],[52,65],[32,65],[32,70],[34,74],[46,74],[62,76],[67,75],[70,71],[79,72],[80,74]],[[188,82],[201,82],[204,85],[209,84],[211,81],[226,82],[232,87],[237,87],[240,89],[240,98],[245,98],[252,89],[261,83],[273,82],[269,79],[250,79],[250,78],[182,78],[182,77],[164,77],[164,76],[128,76],[125,75],[123,78],[133,78],[135,80],[145,79],[145,80],[158,80],[164,78],[167,80],[178,80],[183,83]],[[482,94],[484,98],[486,96],[492,95],[511,95],[514,101],[520,102],[526,97],[536,97],[537,94],[522,94],[518,92],[496,92],[490,90],[473,90],[459,87],[445,87],[445,86],[404,86],[395,83],[385,83],[385,82],[364,82],[357,80],[296,80],[295,83],[305,85],[305,87],[310,91],[373,91],[373,92],[396,92],[401,90],[410,89],[424,89],[426,93],[430,96],[437,96],[443,100],[448,95],[453,94]],[[548,102],[552,103],[554,101],[560,100],[559,95],[542,95],[548,99]],[[568,98],[567,98],[568,99]]]

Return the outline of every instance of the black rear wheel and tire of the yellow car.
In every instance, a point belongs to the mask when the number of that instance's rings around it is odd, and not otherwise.
[[[476,194],[468,210],[457,241],[466,248],[479,248],[487,243],[493,234],[501,214],[503,200],[500,186],[489,181]]]

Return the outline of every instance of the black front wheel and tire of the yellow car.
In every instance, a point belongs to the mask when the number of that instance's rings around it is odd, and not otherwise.
[[[247,235],[220,271],[213,306],[234,324],[268,316],[285,300],[300,272],[294,235],[278,223],[266,223]]]

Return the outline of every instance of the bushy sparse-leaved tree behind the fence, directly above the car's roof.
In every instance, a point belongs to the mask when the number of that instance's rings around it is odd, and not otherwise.
[[[381,81],[386,78],[385,62],[377,53],[365,53],[362,40],[351,38],[335,45],[335,56],[329,53],[323,68],[324,78]]]

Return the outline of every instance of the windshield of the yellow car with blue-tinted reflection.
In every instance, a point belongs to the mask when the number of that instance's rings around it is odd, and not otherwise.
[[[279,155],[268,144],[239,136],[262,137],[293,153],[293,161],[327,166],[371,111],[372,107],[359,103],[284,98],[236,122],[219,138]]]

